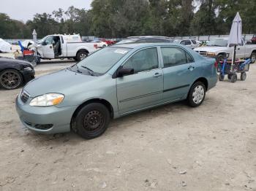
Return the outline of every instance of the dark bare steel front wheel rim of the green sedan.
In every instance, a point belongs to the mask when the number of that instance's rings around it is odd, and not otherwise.
[[[83,118],[83,128],[85,128],[88,131],[99,130],[103,127],[104,123],[104,115],[97,110],[88,112],[86,116]]]

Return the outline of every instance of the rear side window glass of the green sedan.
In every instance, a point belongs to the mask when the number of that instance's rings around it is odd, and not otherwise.
[[[177,47],[161,47],[164,67],[193,63],[193,58],[186,51]]]

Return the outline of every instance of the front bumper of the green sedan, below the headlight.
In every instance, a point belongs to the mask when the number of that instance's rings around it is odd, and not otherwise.
[[[30,101],[31,99],[24,104],[20,99],[20,94],[16,98],[16,110],[20,121],[26,128],[45,134],[66,133],[70,131],[70,122],[72,114],[74,114],[77,108],[76,106],[60,108],[56,106],[36,107],[29,106]]]

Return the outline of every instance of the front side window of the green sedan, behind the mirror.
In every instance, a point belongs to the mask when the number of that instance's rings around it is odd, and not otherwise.
[[[148,48],[132,55],[124,64],[124,69],[134,69],[135,73],[158,69],[157,48]]]

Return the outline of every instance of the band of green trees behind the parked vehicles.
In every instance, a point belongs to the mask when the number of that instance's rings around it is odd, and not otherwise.
[[[243,32],[253,34],[255,9],[251,0],[94,0],[90,10],[58,9],[36,14],[26,23],[0,13],[0,37],[31,38],[34,29],[39,38],[73,33],[99,37],[228,34],[236,12],[241,14]]]

